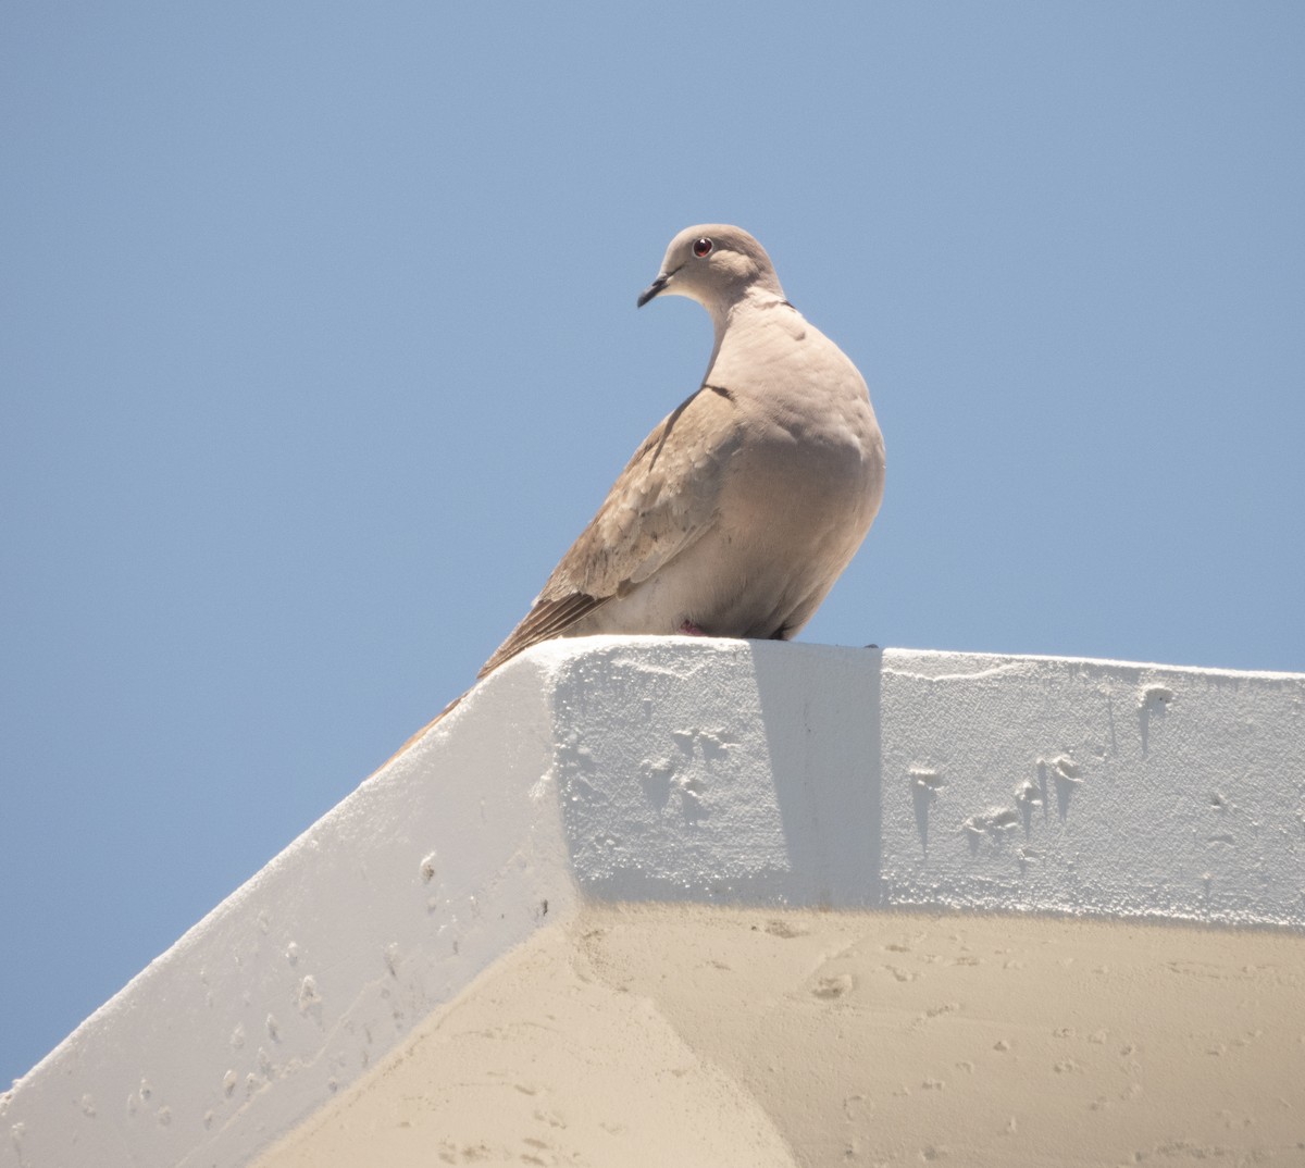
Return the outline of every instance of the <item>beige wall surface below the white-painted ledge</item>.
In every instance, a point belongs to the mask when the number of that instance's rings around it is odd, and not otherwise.
[[[258,1168],[1305,1164],[1305,938],[585,910]]]

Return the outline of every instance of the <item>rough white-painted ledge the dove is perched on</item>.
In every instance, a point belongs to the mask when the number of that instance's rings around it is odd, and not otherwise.
[[[0,1168],[245,1164],[583,898],[1305,928],[1305,675],[540,646],[0,1096]]]

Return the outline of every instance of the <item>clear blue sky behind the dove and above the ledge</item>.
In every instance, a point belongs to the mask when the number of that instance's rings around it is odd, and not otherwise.
[[[803,639],[1305,671],[1305,7],[0,8],[0,1083],[471,681],[736,222],[889,474]]]

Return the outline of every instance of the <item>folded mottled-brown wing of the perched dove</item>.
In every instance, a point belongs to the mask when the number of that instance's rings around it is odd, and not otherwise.
[[[722,482],[741,441],[727,392],[703,386],[681,403],[634,452],[534,607],[478,676],[561,636],[701,539],[715,522]]]

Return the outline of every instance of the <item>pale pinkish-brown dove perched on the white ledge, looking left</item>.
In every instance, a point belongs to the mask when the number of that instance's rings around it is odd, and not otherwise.
[[[787,641],[878,513],[883,437],[865,381],[788,303],[753,236],[686,227],[638,307],[658,296],[711,317],[702,384],[634,452],[478,680],[553,637]]]

